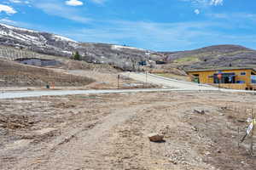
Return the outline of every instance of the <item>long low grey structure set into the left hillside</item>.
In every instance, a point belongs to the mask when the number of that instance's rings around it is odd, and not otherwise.
[[[37,59],[37,58],[21,58],[15,59],[15,61],[24,65],[36,65],[36,66],[52,66],[60,65],[61,62],[55,59]]]

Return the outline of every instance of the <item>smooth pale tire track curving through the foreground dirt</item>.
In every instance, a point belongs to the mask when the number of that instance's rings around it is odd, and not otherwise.
[[[36,167],[31,165],[32,167],[30,168],[83,169],[87,168],[89,161],[96,165],[96,161],[102,161],[98,160],[101,159],[101,156],[97,157],[102,154],[102,150],[97,150],[97,145],[104,144],[110,130],[114,126],[129,120],[131,116],[136,115],[137,112],[150,105],[131,105],[131,107],[120,108],[114,111],[113,114],[104,117],[101,123],[90,130],[76,133],[75,139],[59,145],[57,150],[49,153],[47,160],[40,162]]]

